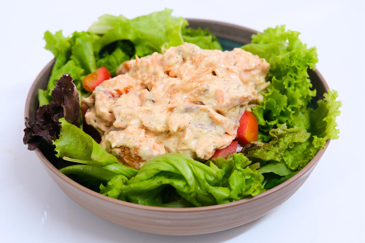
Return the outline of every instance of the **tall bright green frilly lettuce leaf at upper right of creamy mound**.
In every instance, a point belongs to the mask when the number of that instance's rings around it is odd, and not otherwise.
[[[270,63],[269,93],[253,109],[263,132],[284,123],[289,128],[309,129],[306,107],[316,91],[310,90],[307,68],[315,69],[318,58],[316,48],[308,49],[298,38],[299,34],[285,31],[285,26],[268,28],[262,34],[253,35],[251,44],[241,47]]]

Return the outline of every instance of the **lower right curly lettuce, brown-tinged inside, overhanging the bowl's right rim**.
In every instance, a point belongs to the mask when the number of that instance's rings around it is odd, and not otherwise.
[[[337,97],[337,91],[328,90],[328,93],[324,94],[324,99],[317,102],[316,110],[308,109],[309,132],[296,126],[288,129],[283,124],[277,129],[270,130],[272,141],[261,148],[248,151],[247,156],[264,161],[284,162],[292,170],[302,169],[319,149],[324,148],[328,138],[338,138],[339,130],[336,129],[335,120],[341,114],[338,109],[342,103],[336,101]]]

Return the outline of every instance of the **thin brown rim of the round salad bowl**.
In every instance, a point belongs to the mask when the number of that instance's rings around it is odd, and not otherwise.
[[[229,24],[229,23],[224,23],[224,22],[220,22],[220,21],[214,21],[214,20],[205,20],[205,19],[188,19],[188,20],[196,20],[196,21],[202,21],[202,22],[209,22],[209,23],[212,23],[212,24],[220,24],[220,25],[224,25],[224,26],[238,27],[242,30],[251,30],[251,29],[246,28],[246,27],[242,27],[242,26],[238,26],[238,25],[234,25],[234,24]],[[253,31],[253,30],[251,30],[251,31]],[[37,78],[34,80],[32,86],[31,86],[31,88],[28,92],[28,95],[27,95],[26,104],[25,104],[25,111],[24,111],[24,117],[30,117],[29,116],[29,109],[30,109],[32,94],[34,93],[35,89],[37,88],[37,84],[39,83],[41,77],[43,75],[45,75],[45,73],[48,72],[52,68],[54,62],[55,62],[55,59],[52,59],[43,68],[43,70],[38,74]],[[319,77],[319,79],[322,82],[324,88],[326,90],[328,90],[329,87],[328,87],[326,81],[324,80],[323,76],[320,74],[320,72],[317,69],[315,69],[314,72]],[[256,196],[249,197],[249,198],[246,198],[246,199],[241,199],[241,200],[238,200],[238,201],[233,201],[233,202],[230,202],[230,203],[211,205],[211,206],[203,206],[203,207],[193,207],[193,208],[165,208],[165,207],[147,206],[147,205],[140,205],[140,204],[130,203],[130,202],[126,202],[126,201],[122,201],[122,200],[118,200],[118,199],[114,199],[112,197],[102,195],[100,193],[94,192],[91,189],[88,189],[88,188],[76,183],[75,181],[71,180],[69,177],[67,177],[66,175],[61,173],[57,168],[55,168],[54,165],[51,164],[51,162],[49,160],[47,160],[47,158],[44,156],[44,154],[41,152],[41,150],[39,148],[35,149],[34,151],[37,154],[37,156],[39,157],[39,159],[41,160],[41,162],[43,163],[43,165],[46,166],[49,169],[49,171],[53,172],[55,176],[59,177],[59,179],[62,179],[64,182],[66,182],[70,186],[75,187],[76,189],[78,189],[78,190],[80,190],[84,193],[87,193],[90,196],[96,197],[99,200],[103,200],[107,203],[112,203],[112,204],[119,205],[119,206],[122,206],[122,207],[134,208],[134,209],[139,209],[139,210],[144,210],[144,211],[164,212],[164,213],[194,213],[194,212],[215,211],[215,210],[219,210],[219,209],[227,209],[227,208],[235,207],[235,206],[238,206],[238,205],[248,204],[248,203],[251,203],[253,201],[260,200],[264,197],[268,197],[268,196],[270,196],[270,195],[272,195],[272,194],[274,194],[278,191],[281,191],[281,189],[283,189],[285,187],[288,187],[289,185],[294,183],[296,180],[298,180],[300,177],[306,175],[307,173],[311,173],[312,167],[314,167],[317,164],[317,162],[319,161],[319,159],[322,157],[322,155],[325,152],[325,150],[327,149],[328,144],[330,143],[330,141],[331,141],[331,139],[328,138],[326,140],[326,143],[324,144],[324,148],[320,149],[316,153],[316,155],[312,158],[312,160],[306,166],[304,166],[303,169],[301,169],[298,173],[296,173],[296,175],[294,175],[293,177],[291,177],[287,181],[284,181],[283,183],[281,183],[280,185],[277,185],[276,187],[274,187],[272,189],[269,189],[265,192],[262,192],[262,193],[260,193]]]

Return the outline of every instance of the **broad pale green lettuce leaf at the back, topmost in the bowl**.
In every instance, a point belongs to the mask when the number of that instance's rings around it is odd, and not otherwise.
[[[131,40],[135,55],[141,57],[161,52],[161,47],[178,46],[184,43],[181,28],[188,22],[182,17],[171,16],[172,10],[154,12],[128,20],[120,15],[103,15],[89,28],[90,32],[103,34],[95,42],[95,53],[117,40]]]

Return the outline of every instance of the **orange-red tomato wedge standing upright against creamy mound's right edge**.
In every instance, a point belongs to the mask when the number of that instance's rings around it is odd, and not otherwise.
[[[247,145],[250,142],[257,141],[258,124],[255,115],[251,111],[245,110],[239,119],[239,128],[237,130],[237,140],[240,144]]]

